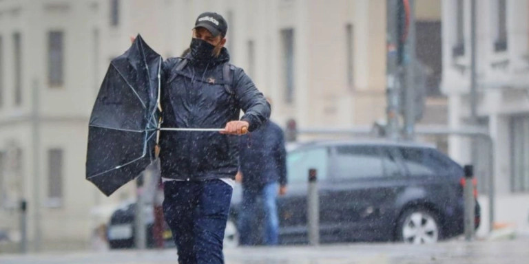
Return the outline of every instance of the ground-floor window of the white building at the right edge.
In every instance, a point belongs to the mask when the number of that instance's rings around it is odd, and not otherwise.
[[[512,118],[510,133],[510,190],[529,192],[529,117]]]

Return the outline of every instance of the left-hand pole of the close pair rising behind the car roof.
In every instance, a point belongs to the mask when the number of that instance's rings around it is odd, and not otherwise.
[[[390,140],[399,138],[400,74],[397,71],[397,1],[386,0],[386,135]]]

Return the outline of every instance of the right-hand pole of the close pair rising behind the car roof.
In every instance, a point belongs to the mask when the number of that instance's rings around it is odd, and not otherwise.
[[[406,67],[406,109],[404,113],[404,137],[415,137],[415,0],[409,0],[410,25],[408,28],[408,65]]]

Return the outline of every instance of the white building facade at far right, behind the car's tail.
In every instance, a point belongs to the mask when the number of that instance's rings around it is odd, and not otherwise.
[[[478,165],[483,219],[488,218],[488,162],[493,165],[495,222],[528,228],[529,214],[529,1],[476,1],[476,113],[494,143],[478,146],[473,159],[466,138],[451,137],[450,154]],[[442,90],[450,127],[472,124],[470,100],[470,0],[442,2]],[[482,145],[482,144],[481,144]],[[481,164],[481,166],[480,166]],[[485,166],[483,166],[485,165]],[[489,228],[487,221],[484,228]]]

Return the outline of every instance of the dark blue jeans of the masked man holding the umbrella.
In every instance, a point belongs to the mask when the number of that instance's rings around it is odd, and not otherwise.
[[[222,240],[232,191],[220,179],[165,181],[163,212],[173,232],[178,263],[224,263]]]

